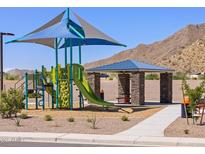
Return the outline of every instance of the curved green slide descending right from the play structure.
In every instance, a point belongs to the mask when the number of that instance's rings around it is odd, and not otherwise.
[[[83,66],[73,64],[73,80],[83,96],[87,98],[90,103],[103,106],[113,106],[112,103],[106,102],[95,95],[85,78]]]

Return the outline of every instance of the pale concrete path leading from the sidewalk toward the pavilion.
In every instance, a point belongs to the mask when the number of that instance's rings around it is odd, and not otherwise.
[[[164,130],[180,116],[180,104],[169,105],[134,127],[116,135],[122,136],[164,136]]]

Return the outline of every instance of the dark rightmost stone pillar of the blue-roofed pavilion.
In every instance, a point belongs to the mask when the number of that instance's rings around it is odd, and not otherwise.
[[[172,103],[172,73],[160,74],[160,103]]]

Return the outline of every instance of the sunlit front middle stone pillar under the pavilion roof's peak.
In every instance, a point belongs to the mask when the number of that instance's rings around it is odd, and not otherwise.
[[[131,103],[132,105],[143,105],[145,101],[145,73],[133,72],[131,74]]]

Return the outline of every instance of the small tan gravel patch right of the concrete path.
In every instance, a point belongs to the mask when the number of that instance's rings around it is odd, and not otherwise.
[[[199,123],[200,120],[198,120]],[[205,123],[205,120],[203,120]],[[205,137],[205,125],[193,125],[192,119],[189,119],[189,125],[186,124],[185,118],[178,118],[165,130],[165,136],[169,137]],[[184,130],[188,130],[188,134],[185,134]]]

